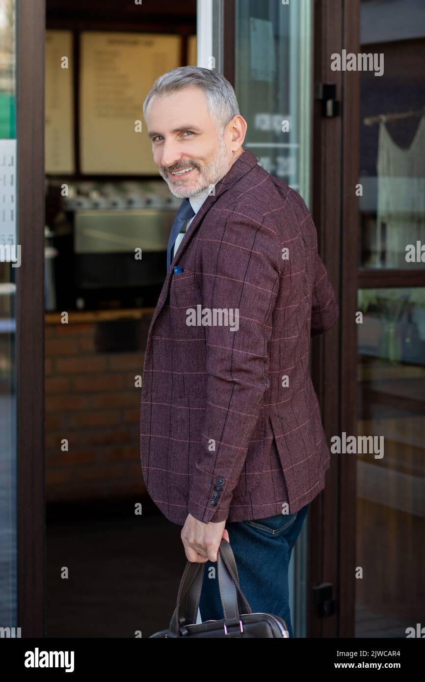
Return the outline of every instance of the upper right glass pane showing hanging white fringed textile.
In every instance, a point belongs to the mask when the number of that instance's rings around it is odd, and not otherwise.
[[[425,246],[424,3],[361,6],[362,52],[385,59],[383,76],[360,74],[360,266],[424,268],[406,258]]]

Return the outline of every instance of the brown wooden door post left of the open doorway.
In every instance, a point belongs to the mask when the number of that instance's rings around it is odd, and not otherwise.
[[[18,627],[45,635],[44,33],[45,0],[16,0]]]

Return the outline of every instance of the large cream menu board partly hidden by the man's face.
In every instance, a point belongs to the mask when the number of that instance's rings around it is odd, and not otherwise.
[[[180,42],[178,35],[80,34],[81,173],[158,175],[143,100],[158,76],[179,66]]]

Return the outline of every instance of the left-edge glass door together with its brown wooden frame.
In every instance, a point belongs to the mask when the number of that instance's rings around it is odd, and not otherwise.
[[[0,0],[0,637],[44,634],[44,0]]]

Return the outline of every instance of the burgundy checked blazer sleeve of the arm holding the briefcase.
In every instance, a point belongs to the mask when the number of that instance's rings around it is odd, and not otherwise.
[[[282,271],[280,244],[265,236],[261,223],[235,212],[224,223],[222,239],[205,239],[203,271],[197,273],[204,309],[237,310],[235,331],[229,325],[204,327],[207,402],[188,500],[189,514],[204,523],[229,514],[269,387],[267,344]],[[209,234],[217,233],[211,228]],[[215,486],[221,490],[211,503]]]

